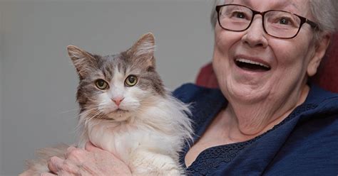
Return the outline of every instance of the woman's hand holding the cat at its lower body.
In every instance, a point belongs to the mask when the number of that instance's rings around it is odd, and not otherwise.
[[[52,157],[48,168],[57,175],[131,175],[126,163],[106,150],[86,143],[86,150],[70,147],[65,154],[66,160]],[[43,173],[43,176],[53,175]]]

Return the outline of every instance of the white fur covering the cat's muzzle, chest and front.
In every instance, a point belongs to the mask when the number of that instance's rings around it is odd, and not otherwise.
[[[116,69],[117,70],[117,69]],[[114,72],[110,89],[100,95],[98,109],[110,120],[91,118],[93,111],[80,114],[81,139],[115,153],[135,175],[180,175],[178,152],[191,139],[188,106],[169,93],[162,97],[135,87],[126,87],[127,75]],[[111,99],[124,97],[120,106]],[[116,109],[128,112],[116,114]]]

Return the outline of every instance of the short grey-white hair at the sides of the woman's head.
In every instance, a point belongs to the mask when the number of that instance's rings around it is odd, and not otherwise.
[[[212,28],[215,28],[217,23],[215,6],[224,4],[227,0],[213,1],[214,5],[212,6],[210,20]],[[319,37],[322,32],[334,33],[337,31],[338,0],[309,0],[309,9],[314,17],[314,22],[319,25],[319,33],[316,33],[316,37]]]

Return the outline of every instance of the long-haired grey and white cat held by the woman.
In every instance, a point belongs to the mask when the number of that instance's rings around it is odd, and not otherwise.
[[[133,175],[182,175],[178,153],[193,133],[188,106],[166,91],[155,71],[153,34],[118,55],[92,55],[75,46],[68,54],[80,79],[77,147],[86,142],[121,158]],[[22,175],[48,172],[46,161],[67,146],[40,150]]]

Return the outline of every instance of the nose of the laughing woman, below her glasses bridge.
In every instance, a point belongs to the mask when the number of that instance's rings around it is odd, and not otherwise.
[[[262,16],[255,16],[250,27],[245,31],[242,42],[250,47],[267,47],[267,34],[262,23]]]

